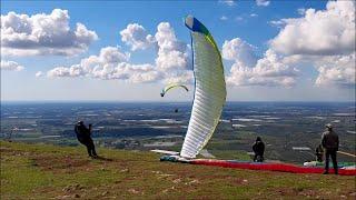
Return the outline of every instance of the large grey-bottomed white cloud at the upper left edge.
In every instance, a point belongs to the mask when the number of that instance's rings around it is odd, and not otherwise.
[[[9,12],[1,16],[1,53],[10,56],[75,56],[86,51],[97,40],[95,31],[85,24],[69,27],[67,10],[33,16]]]

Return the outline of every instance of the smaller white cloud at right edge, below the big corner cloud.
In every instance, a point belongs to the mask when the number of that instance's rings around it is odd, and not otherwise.
[[[316,86],[339,86],[355,88],[355,52],[348,56],[326,57],[317,61],[319,76]]]

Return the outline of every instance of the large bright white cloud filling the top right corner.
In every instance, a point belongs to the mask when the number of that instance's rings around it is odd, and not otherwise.
[[[307,9],[286,24],[270,46],[285,54],[334,56],[355,51],[355,2],[329,1],[326,10]]]

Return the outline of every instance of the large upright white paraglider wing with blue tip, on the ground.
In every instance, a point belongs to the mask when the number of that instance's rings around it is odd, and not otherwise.
[[[196,158],[211,138],[226,100],[221,56],[207,28],[188,16],[194,51],[195,94],[187,134],[180,151],[184,158]]]

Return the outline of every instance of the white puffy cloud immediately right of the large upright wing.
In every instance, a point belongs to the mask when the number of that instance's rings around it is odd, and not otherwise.
[[[289,60],[277,56],[273,50],[267,50],[265,57],[258,59],[256,48],[246,41],[235,38],[225,41],[221,56],[233,60],[227,83],[230,86],[284,86],[295,84],[298,70],[290,67]]]

